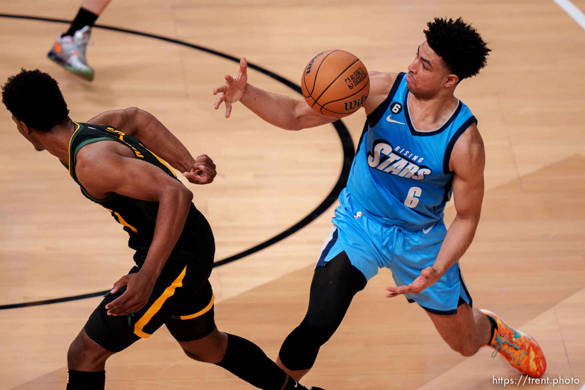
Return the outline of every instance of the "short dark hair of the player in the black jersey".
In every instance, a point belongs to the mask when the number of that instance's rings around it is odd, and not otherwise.
[[[38,69],[26,70],[8,78],[2,85],[2,103],[26,126],[50,130],[69,115],[57,81]]]

